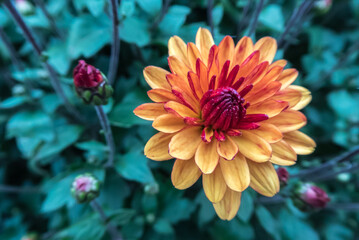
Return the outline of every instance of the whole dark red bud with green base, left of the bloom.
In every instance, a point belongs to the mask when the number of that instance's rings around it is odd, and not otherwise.
[[[76,92],[86,104],[105,105],[112,96],[106,76],[84,60],[74,68],[73,78]]]

